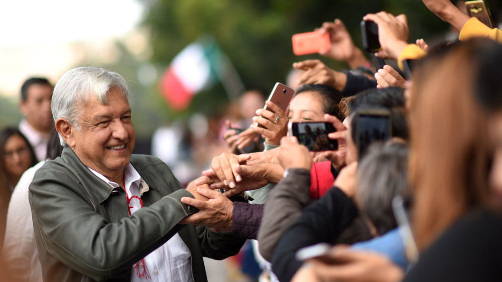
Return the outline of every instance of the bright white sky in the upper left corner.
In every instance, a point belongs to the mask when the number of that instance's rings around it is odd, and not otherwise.
[[[47,76],[55,83],[81,58],[75,46],[99,48],[117,38],[125,40],[143,11],[139,0],[3,1],[0,94],[17,94],[22,82],[33,75]]]

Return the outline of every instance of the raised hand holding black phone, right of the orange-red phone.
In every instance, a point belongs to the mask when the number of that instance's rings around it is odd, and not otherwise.
[[[367,14],[364,21],[373,21],[378,25],[379,41],[382,50],[376,53],[382,58],[397,59],[408,45],[410,31],[406,15],[394,16],[387,12]]]

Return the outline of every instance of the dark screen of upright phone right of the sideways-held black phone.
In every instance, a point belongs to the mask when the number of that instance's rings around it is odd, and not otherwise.
[[[385,141],[391,138],[390,115],[361,114],[358,116],[357,156],[359,160],[375,141]]]

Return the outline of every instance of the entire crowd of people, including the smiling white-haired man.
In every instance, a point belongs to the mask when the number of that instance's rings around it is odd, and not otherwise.
[[[246,92],[239,117],[212,132],[225,152],[189,182],[133,154],[120,74],[27,80],[23,120],[0,131],[6,279],[206,281],[202,257],[246,240],[261,281],[502,279],[502,31],[449,0],[422,2],[458,40],[409,44],[405,15],[368,14],[376,56],[397,61],[379,68],[340,20],[322,24],[321,55],[350,70],[294,63],[285,110]],[[381,138],[362,148],[368,116],[386,134],[373,129]],[[336,150],[291,136],[289,124],[312,121],[332,125]]]

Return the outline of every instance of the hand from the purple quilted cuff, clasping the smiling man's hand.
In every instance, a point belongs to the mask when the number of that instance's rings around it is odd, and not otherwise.
[[[182,197],[182,203],[195,207],[199,209],[199,211],[183,218],[180,224],[205,225],[215,232],[232,231],[232,201],[218,191],[209,189],[207,186],[194,189],[196,190],[195,192],[204,197],[205,200],[201,200],[197,198],[197,196],[195,199]]]

